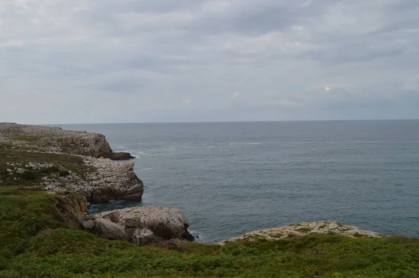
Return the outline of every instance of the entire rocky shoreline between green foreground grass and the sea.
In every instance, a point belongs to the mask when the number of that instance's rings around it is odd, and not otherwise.
[[[12,157],[15,160],[12,161]],[[132,207],[87,215],[88,203],[110,200],[140,201],[142,181],[133,171],[129,153],[113,153],[103,134],[74,132],[35,125],[0,123],[0,185],[33,180],[60,196],[57,207],[66,222],[77,229],[110,240],[127,240],[138,245],[162,241],[193,240],[182,210],[163,207]],[[8,161],[10,160],[10,162]],[[0,164],[1,166],[1,164]],[[223,240],[281,240],[311,233],[339,234],[351,238],[379,237],[372,231],[338,222],[302,222],[290,226],[252,231]]]

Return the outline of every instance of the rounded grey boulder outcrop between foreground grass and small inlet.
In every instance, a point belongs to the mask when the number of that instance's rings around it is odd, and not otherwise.
[[[108,239],[147,245],[164,240],[193,240],[182,210],[163,207],[133,207],[89,215],[84,229]]]

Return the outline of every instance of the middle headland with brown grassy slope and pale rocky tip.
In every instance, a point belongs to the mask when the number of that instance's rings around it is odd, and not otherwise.
[[[24,155],[24,153],[14,154]],[[33,178],[36,179],[36,185],[41,185],[47,191],[80,192],[91,203],[119,199],[141,200],[144,185],[135,175],[134,162],[112,162],[109,159],[82,155],[66,155],[65,157],[71,160],[74,156],[78,158],[79,164],[73,164],[73,170],[83,169],[83,171],[75,173],[59,164],[54,164],[56,163],[54,160],[50,160],[53,163],[7,162],[4,171],[0,169],[0,185],[3,181],[7,184],[10,180],[19,182]],[[39,183],[38,176],[41,177]]]

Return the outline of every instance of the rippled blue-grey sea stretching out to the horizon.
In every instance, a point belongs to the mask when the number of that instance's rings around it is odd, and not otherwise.
[[[201,242],[334,219],[419,237],[419,121],[61,125],[135,155],[141,202],[182,208]]]

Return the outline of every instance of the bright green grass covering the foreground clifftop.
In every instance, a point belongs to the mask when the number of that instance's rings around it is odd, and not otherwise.
[[[307,235],[188,251],[70,229],[59,196],[0,187],[0,277],[419,277],[419,240]]]

